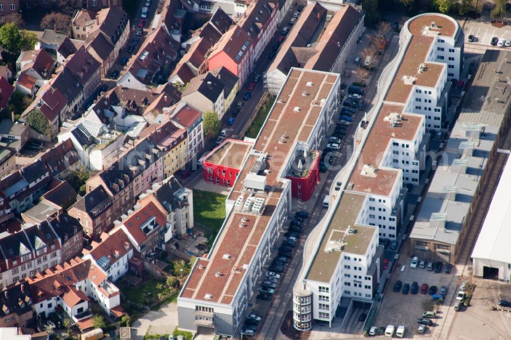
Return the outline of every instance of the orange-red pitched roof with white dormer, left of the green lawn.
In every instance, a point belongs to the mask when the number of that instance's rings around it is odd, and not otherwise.
[[[124,220],[122,225],[137,245],[140,246],[148,238],[147,235],[153,230],[153,228],[148,227],[149,223],[154,221],[157,226],[165,227],[167,223],[166,216],[167,214],[161,211],[153,202],[148,202]]]

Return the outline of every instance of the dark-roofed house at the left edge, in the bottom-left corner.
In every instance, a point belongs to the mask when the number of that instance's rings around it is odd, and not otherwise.
[[[0,293],[0,328],[31,327],[34,312],[28,282],[16,282]]]

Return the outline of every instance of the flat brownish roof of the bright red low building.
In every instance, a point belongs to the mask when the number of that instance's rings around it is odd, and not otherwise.
[[[240,169],[248,157],[253,143],[238,139],[226,139],[204,159],[212,165]]]

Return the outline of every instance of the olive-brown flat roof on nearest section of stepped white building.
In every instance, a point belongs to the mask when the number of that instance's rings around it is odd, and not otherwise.
[[[342,253],[364,255],[367,252],[367,247],[378,230],[376,227],[357,224],[366,197],[360,193],[342,193],[306,275],[307,280],[330,282]],[[349,229],[353,232],[350,233]]]

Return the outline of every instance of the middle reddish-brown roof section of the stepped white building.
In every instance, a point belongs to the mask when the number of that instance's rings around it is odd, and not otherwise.
[[[384,104],[378,113],[373,129],[369,132],[367,140],[362,148],[357,165],[350,177],[354,191],[373,193],[374,195],[388,196],[394,182],[398,178],[398,169],[380,168],[382,158],[391,138],[400,140],[413,140],[421,122],[424,124],[424,116],[418,114],[402,114],[401,123],[394,127],[386,117],[391,113],[401,113],[400,105]],[[376,169],[376,176],[362,175],[364,165],[370,165]]]

